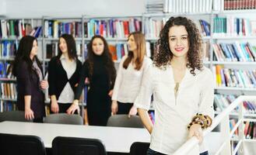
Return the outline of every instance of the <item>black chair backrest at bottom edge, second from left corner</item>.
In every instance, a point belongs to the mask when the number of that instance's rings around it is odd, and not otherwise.
[[[57,136],[52,141],[53,155],[107,155],[100,140]]]

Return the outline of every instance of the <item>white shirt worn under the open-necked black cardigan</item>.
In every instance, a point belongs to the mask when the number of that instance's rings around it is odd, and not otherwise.
[[[75,60],[72,60],[72,63],[68,64],[67,60],[65,59],[63,54],[61,55],[60,60],[61,60],[61,65],[64,68],[65,72],[67,73],[67,76],[69,79],[70,77],[72,77],[72,74],[75,73],[76,62],[75,62]],[[65,87],[61,91],[61,95],[58,97],[58,102],[59,103],[72,103],[74,101],[74,98],[75,98],[75,93],[72,90],[72,87],[68,82],[67,84],[65,84]]]

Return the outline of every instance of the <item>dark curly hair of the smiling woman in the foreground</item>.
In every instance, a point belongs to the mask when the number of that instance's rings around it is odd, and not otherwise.
[[[160,69],[166,69],[170,64],[170,60],[174,54],[170,51],[169,47],[169,30],[172,26],[184,26],[188,32],[188,68],[191,68],[190,73],[195,76],[195,68],[202,69],[202,38],[199,30],[191,19],[186,17],[170,17],[165,26],[160,32],[160,39],[157,40],[159,49],[153,60],[153,64]]]

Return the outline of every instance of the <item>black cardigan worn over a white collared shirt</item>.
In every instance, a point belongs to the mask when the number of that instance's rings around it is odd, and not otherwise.
[[[61,60],[58,57],[51,58],[48,66],[48,82],[49,82],[49,95],[61,95],[61,91],[65,85],[69,82],[72,90],[75,92],[75,84],[79,82],[79,71],[81,70],[82,63],[80,60],[76,60],[75,73],[68,80],[68,75],[61,64]]]

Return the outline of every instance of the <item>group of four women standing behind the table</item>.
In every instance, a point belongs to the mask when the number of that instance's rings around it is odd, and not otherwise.
[[[76,54],[74,38],[69,34],[61,35],[58,40],[58,55],[51,58],[48,65],[48,79],[45,81],[41,64],[37,59],[36,38],[24,36],[20,40],[13,73],[17,77],[18,107],[25,111],[26,119],[43,121],[45,115],[43,92],[46,88],[49,88],[51,113],[78,113],[79,98],[86,82],[89,82],[86,101],[89,125],[106,126],[111,112],[136,115],[137,109],[133,106],[133,102],[136,94],[139,93],[144,68],[151,62],[145,56],[144,35],[135,32],[128,37],[129,53],[121,60],[118,74],[103,36],[93,36],[87,46],[88,57],[82,64]],[[37,67],[20,68],[33,62],[37,62]],[[31,84],[28,84],[29,82]],[[40,84],[44,84],[44,87]],[[30,101],[24,100],[26,90],[30,90],[29,95],[32,98]],[[37,95],[33,95],[36,92]],[[24,108],[26,105],[30,110]]]

